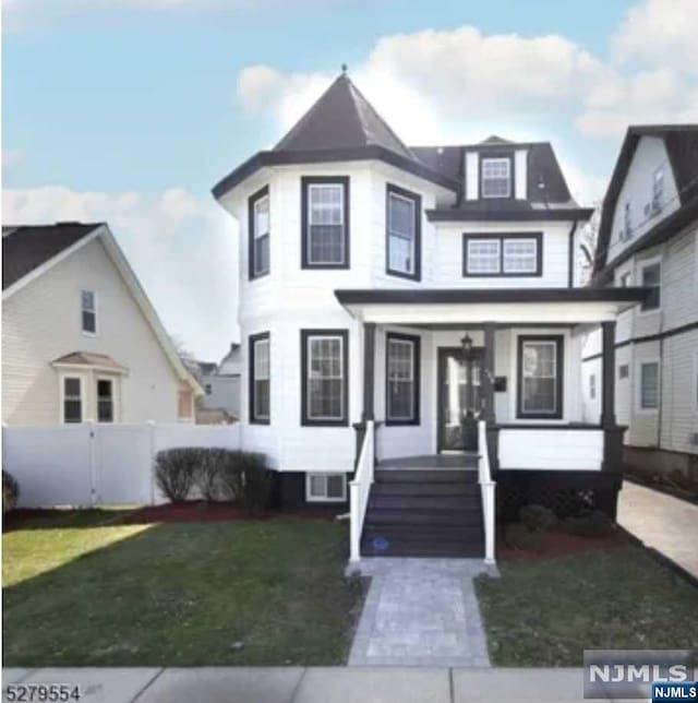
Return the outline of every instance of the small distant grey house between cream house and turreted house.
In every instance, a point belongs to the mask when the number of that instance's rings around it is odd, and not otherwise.
[[[204,396],[196,412],[196,421],[231,421],[240,417],[240,345],[233,342],[220,364],[201,361],[201,384]],[[201,413],[205,410],[205,413]],[[216,414],[216,412],[220,412]],[[215,419],[214,419],[215,418]]]

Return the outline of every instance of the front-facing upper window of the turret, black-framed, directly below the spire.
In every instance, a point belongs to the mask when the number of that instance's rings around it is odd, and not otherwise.
[[[303,269],[349,267],[349,178],[301,179]]]

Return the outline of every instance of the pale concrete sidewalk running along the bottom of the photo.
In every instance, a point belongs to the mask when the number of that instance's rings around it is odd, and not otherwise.
[[[80,700],[84,703],[581,703],[585,700],[581,669],[3,669],[3,701],[7,687],[12,683],[79,686]]]

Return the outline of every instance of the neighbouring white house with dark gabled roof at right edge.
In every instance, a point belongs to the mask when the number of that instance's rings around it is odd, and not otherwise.
[[[698,476],[698,124],[630,127],[609,186],[593,284],[652,286],[618,318],[616,412],[629,465]],[[600,334],[585,419],[600,412]]]

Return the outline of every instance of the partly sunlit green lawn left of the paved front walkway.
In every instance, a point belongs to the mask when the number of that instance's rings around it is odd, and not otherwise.
[[[33,521],[3,535],[3,664],[342,664],[363,592],[346,543],[293,517]]]

